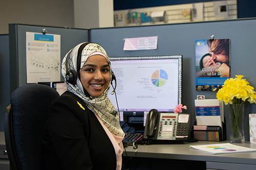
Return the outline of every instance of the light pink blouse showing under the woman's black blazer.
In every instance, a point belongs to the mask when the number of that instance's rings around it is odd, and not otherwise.
[[[100,118],[96,115],[96,117],[98,118],[101,126],[103,127],[103,129],[105,130],[106,134],[109,136],[113,147],[115,149],[115,153],[116,153],[116,170],[121,170],[122,168],[122,154],[123,154],[123,137],[121,136],[116,136],[114,134],[112,134],[108,128],[105,127],[105,125],[102,123],[102,121],[100,120]]]

